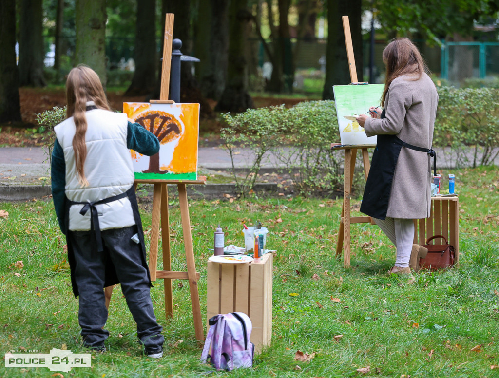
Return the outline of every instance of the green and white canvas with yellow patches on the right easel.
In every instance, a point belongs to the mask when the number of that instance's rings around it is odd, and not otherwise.
[[[379,106],[385,84],[333,85],[340,141],[342,145],[376,144],[376,136],[367,137],[355,117]]]

